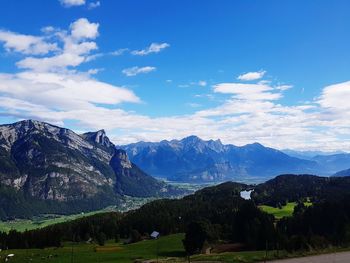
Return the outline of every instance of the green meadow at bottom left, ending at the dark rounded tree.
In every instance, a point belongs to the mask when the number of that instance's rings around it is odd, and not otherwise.
[[[7,250],[0,252],[0,262],[11,253],[15,254],[11,263],[131,263],[136,259],[156,258],[157,251],[159,258],[182,258],[185,255],[183,238],[183,234],[175,234],[161,237],[159,240],[141,241],[130,245],[107,243],[103,247],[98,247],[90,244],[73,244],[73,246],[65,244],[62,248]]]

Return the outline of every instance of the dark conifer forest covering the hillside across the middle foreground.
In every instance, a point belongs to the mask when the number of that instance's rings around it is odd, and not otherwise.
[[[312,187],[298,192],[305,180]],[[153,201],[128,213],[103,213],[23,233],[2,233],[0,245],[2,248],[42,248],[60,246],[64,241],[86,240],[103,245],[107,239],[120,238],[137,242],[157,230],[161,235],[185,233],[183,244],[189,254],[215,243],[236,243],[247,250],[293,251],[342,246],[350,242],[347,182],[347,178],[279,176],[256,186],[252,200],[240,197],[242,190],[252,186],[228,182],[182,199]],[[334,193],[337,199],[331,195],[333,191],[337,191]],[[304,198],[313,200],[313,205],[304,206]],[[259,209],[262,200],[277,205],[287,200],[297,201],[298,205],[292,217],[276,221],[273,215]]]

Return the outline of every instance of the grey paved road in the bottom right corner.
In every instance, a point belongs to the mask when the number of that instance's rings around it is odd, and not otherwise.
[[[350,252],[268,261],[271,263],[349,263]]]

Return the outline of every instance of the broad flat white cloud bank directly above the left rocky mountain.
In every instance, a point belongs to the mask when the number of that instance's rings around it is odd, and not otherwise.
[[[0,74],[2,116],[34,118],[60,125],[65,120],[75,120],[85,127],[93,127],[96,122],[96,127],[101,127],[106,125],[106,118],[111,121],[123,112],[104,105],[115,107],[122,102],[139,101],[132,91],[86,74]]]

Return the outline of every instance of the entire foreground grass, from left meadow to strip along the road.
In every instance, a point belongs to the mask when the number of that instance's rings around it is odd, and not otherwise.
[[[139,262],[149,259],[156,260],[158,254],[159,262],[185,263],[187,260],[185,260],[185,251],[182,246],[183,238],[184,234],[175,234],[161,237],[159,240],[146,240],[129,245],[116,244],[110,241],[103,247],[85,243],[74,243],[73,245],[66,243],[61,248],[7,250],[0,252],[0,262],[5,262],[6,255],[14,254],[14,257],[9,261],[11,263],[133,263],[136,260],[139,260]],[[328,249],[295,254],[288,254],[285,251],[268,251],[266,259],[300,257],[330,252],[335,252],[335,250]],[[191,262],[263,262],[265,255],[265,251],[194,255],[191,256]]]

